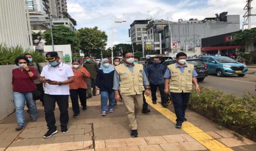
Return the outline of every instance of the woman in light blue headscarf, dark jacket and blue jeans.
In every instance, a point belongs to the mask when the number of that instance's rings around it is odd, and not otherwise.
[[[96,86],[101,94],[101,116],[106,116],[108,112],[107,102],[109,103],[109,112],[113,113],[115,106],[115,91],[113,90],[115,68],[110,65],[108,59],[102,59],[100,69],[97,72]]]

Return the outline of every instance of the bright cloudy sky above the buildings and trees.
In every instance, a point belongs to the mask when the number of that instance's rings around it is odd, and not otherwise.
[[[243,8],[246,0],[67,0],[68,13],[77,20],[77,28],[99,27],[105,31],[111,45],[113,22],[127,21],[115,24],[113,44],[130,43],[128,29],[134,20],[178,19],[188,20],[215,17],[223,11],[228,15],[240,15],[242,28]],[[256,14],[256,1],[252,2],[252,14]],[[256,16],[252,18],[256,23]]]

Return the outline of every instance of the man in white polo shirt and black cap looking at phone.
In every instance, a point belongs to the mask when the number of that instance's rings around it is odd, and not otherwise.
[[[44,66],[41,72],[40,82],[45,85],[45,120],[48,131],[43,138],[49,138],[57,133],[55,125],[55,103],[57,102],[61,112],[59,120],[61,121],[61,132],[68,132],[68,98],[69,83],[74,82],[74,73],[72,68],[59,61],[57,52],[46,54],[46,61],[50,65]]]

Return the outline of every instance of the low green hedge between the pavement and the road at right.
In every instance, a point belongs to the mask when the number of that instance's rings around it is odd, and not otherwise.
[[[236,126],[246,132],[256,130],[256,98],[252,94],[236,97],[211,88],[201,88],[200,94],[192,91],[189,106],[221,125]]]

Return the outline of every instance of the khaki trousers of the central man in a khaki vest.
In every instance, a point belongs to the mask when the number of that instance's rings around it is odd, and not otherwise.
[[[137,130],[137,121],[135,118],[135,107],[141,111],[143,106],[143,95],[122,95],[124,106],[126,106],[126,114],[131,130]],[[135,107],[134,107],[135,106]]]

